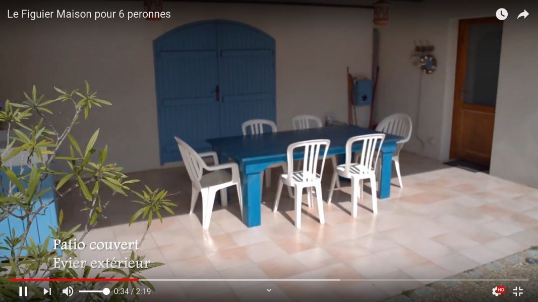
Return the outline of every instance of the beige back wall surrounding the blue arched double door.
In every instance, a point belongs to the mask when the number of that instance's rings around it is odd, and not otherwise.
[[[60,4],[62,8],[74,5]],[[53,6],[48,1],[40,5],[35,8]],[[143,10],[141,1],[77,5],[79,10]],[[172,18],[161,21],[2,19],[0,99],[21,101],[22,91],[30,91],[32,84],[52,97],[54,85],[83,88],[87,80],[98,96],[114,106],[93,110],[73,134],[84,142],[101,128],[98,145],[109,145],[109,159],[127,171],[139,171],[159,168],[152,41],[177,26],[229,19],[257,27],[275,38],[280,130],[290,129],[291,118],[300,113],[320,117],[330,113],[346,121],[346,67],[353,75],[370,76],[372,10],[260,4],[164,5]],[[57,114],[55,123],[65,125],[69,112]],[[362,109],[359,118],[365,119],[366,112]]]

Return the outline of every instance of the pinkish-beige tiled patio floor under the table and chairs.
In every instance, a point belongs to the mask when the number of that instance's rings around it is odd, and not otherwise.
[[[230,206],[215,205],[210,228],[204,231],[200,200],[195,214],[188,214],[190,181],[185,168],[130,174],[153,188],[179,192],[171,197],[178,204],[176,214],[162,224],[154,222],[139,250],[148,260],[166,263],[148,270],[146,278],[391,279],[154,282],[158,291],[146,299],[173,294],[176,300],[383,300],[431,282],[425,279],[449,277],[538,244],[538,190],[409,153],[401,157],[404,188],[393,185],[391,198],[379,200],[377,215],[369,210],[370,191],[365,186],[362,207],[353,219],[350,188],[343,183],[332,204],[324,204],[325,225],[318,223],[317,208],[308,208],[305,198],[300,230],[293,224],[293,202],[286,192],[279,212],[271,211],[275,188],[264,189],[261,226],[243,225],[237,197],[231,193]],[[329,164],[323,176],[324,198],[331,173]],[[273,185],[278,174],[274,169]],[[60,205],[67,227],[84,221],[74,206],[80,203],[73,199]],[[128,226],[137,209],[129,200],[115,198],[107,209],[108,219],[85,241],[139,239],[145,221]],[[119,251],[81,253],[88,259],[124,256]]]

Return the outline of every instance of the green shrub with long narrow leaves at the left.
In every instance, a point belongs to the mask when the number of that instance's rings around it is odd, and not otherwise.
[[[96,92],[91,92],[86,82],[85,91],[73,90],[70,92],[54,88],[58,97],[44,100],[44,96],[38,96],[34,86],[31,94],[24,93],[25,100],[21,103],[5,102],[5,109],[0,111],[0,121],[8,125],[5,150],[0,154],[1,171],[0,189],[0,222],[10,217],[19,219],[24,223],[24,232],[16,232],[13,228],[7,234],[0,235],[0,249],[7,250],[10,257],[2,259],[0,267],[0,295],[11,300],[51,300],[67,301],[77,297],[67,297],[61,294],[61,289],[72,286],[75,291],[79,289],[102,289],[107,286],[105,282],[95,281],[62,281],[51,282],[52,295],[45,296],[39,287],[42,282],[10,282],[10,278],[140,278],[146,269],[162,265],[162,263],[150,263],[147,268],[105,268],[101,270],[90,269],[88,265],[83,268],[82,274],[71,268],[55,268],[54,259],[60,257],[49,243],[52,240],[70,242],[76,239],[83,241],[84,237],[100,222],[105,219],[104,211],[111,202],[115,202],[114,196],[132,195],[135,203],[141,204],[130,221],[130,224],[139,217],[147,218],[146,233],[152,224],[154,217],[162,221],[160,211],[164,210],[173,214],[175,206],[167,198],[168,193],[164,190],[152,190],[146,186],[141,192],[131,188],[137,179],[130,179],[123,174],[123,168],[115,163],[109,163],[108,146],[97,149],[95,143],[98,139],[99,130],[91,136],[89,141],[81,148],[77,140],[71,135],[72,129],[79,123],[83,114],[88,118],[93,107],[112,105],[104,99],[96,97]],[[53,114],[53,103],[61,102],[55,106],[71,104],[74,114],[69,123],[61,131],[57,131],[54,123],[49,119]],[[60,154],[62,145],[68,144],[68,154]],[[2,146],[4,147],[4,146]],[[67,148],[66,148],[67,149]],[[13,164],[13,159],[22,159],[20,163]],[[62,162],[69,167],[69,172],[60,172],[54,167]],[[59,182],[53,186],[43,184],[49,178],[58,178]],[[49,179],[50,180],[50,179]],[[111,197],[103,199],[103,188],[112,191]],[[47,192],[54,190],[54,198],[46,199]],[[51,227],[52,238],[43,243],[37,243],[30,236],[30,229],[36,223],[36,218],[43,211],[59,199],[69,193],[79,193],[84,203],[82,211],[87,213],[87,220],[82,225],[71,229],[62,229],[63,212],[59,213],[59,226]],[[145,235],[140,243],[144,241]],[[76,259],[76,250],[63,250],[63,258]],[[136,250],[131,251],[131,260],[143,260],[143,255],[137,255]],[[90,277],[91,276],[91,277]],[[30,297],[18,297],[18,287],[27,286]],[[108,285],[110,286],[110,285]],[[120,281],[112,285],[118,289],[133,289],[145,286],[154,290],[147,281],[126,282]],[[128,292],[128,291],[123,291]],[[138,299],[136,291],[133,294],[116,294],[103,297],[98,294],[88,295],[86,301],[103,301],[104,299],[121,301]]]

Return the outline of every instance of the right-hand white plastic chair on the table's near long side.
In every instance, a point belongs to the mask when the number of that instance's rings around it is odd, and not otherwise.
[[[372,212],[377,214],[377,183],[376,167],[379,157],[379,150],[383,145],[385,134],[367,134],[353,136],[345,143],[345,164],[336,168],[331,179],[331,189],[327,203],[331,203],[332,193],[338,176],[351,179],[351,204],[353,205],[353,217],[357,217],[358,198],[363,199],[363,182],[364,179],[370,179],[372,187]],[[351,147],[353,143],[362,143],[363,148],[360,153],[360,161],[352,163]],[[377,146],[378,145],[378,146]],[[377,146],[377,148],[376,148]],[[377,151],[376,151],[377,150]]]

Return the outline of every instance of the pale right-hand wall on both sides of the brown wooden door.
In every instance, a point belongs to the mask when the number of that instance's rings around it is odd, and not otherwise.
[[[533,70],[536,68],[534,49],[538,48],[536,15],[532,18],[533,12],[538,12],[536,6],[528,1],[392,2],[390,24],[379,28],[381,75],[377,121],[394,112],[408,113],[414,126],[419,124],[414,134],[418,134],[425,145],[422,147],[413,136],[404,148],[434,159],[448,160],[458,20],[494,16],[498,8],[504,7],[508,10],[508,19],[503,31],[491,174],[538,186],[536,173],[532,169],[522,169],[538,157],[533,154],[538,142],[528,138],[532,133],[530,129],[538,128],[536,118],[532,120],[538,110],[536,90],[533,89],[538,80]],[[530,16],[526,20],[517,20],[523,9],[527,9]],[[410,56],[413,41],[419,40],[428,40],[436,47],[434,55],[438,66],[435,73],[422,76],[421,115],[417,120],[420,71],[410,63]],[[525,67],[526,72],[519,71],[514,65]],[[527,123],[524,127],[527,132],[514,135],[514,130],[523,122]],[[514,158],[513,154],[519,157]]]

